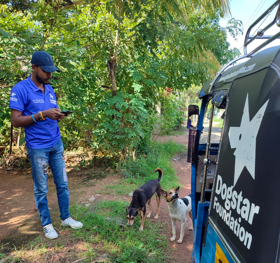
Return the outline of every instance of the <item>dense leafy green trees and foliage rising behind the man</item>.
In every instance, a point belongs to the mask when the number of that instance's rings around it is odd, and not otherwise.
[[[64,142],[120,160],[151,132],[158,93],[187,89],[218,70],[213,31],[204,28],[229,13],[227,1],[27,3],[25,10],[16,1],[0,7],[2,125],[10,89],[28,76],[35,50],[49,52],[63,72],[52,86],[60,108],[74,111],[60,122]],[[194,30],[196,17],[203,30]]]

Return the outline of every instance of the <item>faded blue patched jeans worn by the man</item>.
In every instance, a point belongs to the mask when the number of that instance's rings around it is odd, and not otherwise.
[[[53,147],[49,148],[31,149],[27,147],[27,152],[32,166],[35,203],[42,221],[42,226],[52,223],[46,197],[48,193],[48,165],[50,165],[56,185],[60,218],[65,220],[70,216],[68,211],[69,189],[67,188],[68,179],[61,139]]]

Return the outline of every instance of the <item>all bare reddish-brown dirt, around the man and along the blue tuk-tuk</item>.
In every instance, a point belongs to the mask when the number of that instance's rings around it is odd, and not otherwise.
[[[184,135],[160,137],[159,141],[169,141],[182,143],[188,146],[187,129]],[[179,191],[179,196],[184,197],[190,194],[190,164],[187,163],[187,153],[178,154],[172,160],[172,165],[176,170],[176,175],[179,178],[180,184],[183,186]],[[113,184],[118,180],[113,174],[107,177],[96,176],[98,171],[94,170],[95,179],[92,180],[92,171],[87,170],[78,172],[72,167],[75,164],[75,156],[67,155],[67,174],[69,179],[70,190],[70,205],[80,202],[89,202],[88,199],[95,195],[96,199],[101,200],[118,200],[120,196],[112,195],[112,193],[102,192],[96,196],[97,191],[100,191],[100,185]],[[72,167],[70,166],[72,165]],[[48,205],[50,207],[51,218],[54,224],[60,223],[59,208],[57,204],[56,189],[53,177],[50,174],[48,178]],[[167,190],[167,189],[165,189]],[[123,199],[129,201],[131,198],[122,196]],[[156,207],[156,200],[152,200],[153,207]],[[171,219],[168,212],[168,207],[164,199],[161,199],[159,221],[166,224],[165,236],[170,240],[172,235]],[[153,217],[150,220],[155,221]],[[189,263],[191,262],[191,251],[193,241],[193,231],[188,230],[191,225],[191,220],[186,217],[187,224],[185,228],[185,236],[182,244],[171,242],[171,263]],[[180,233],[180,224],[176,224],[176,238]],[[7,172],[0,170],[0,247],[3,246],[6,252],[13,250],[15,246],[21,246],[27,243],[30,239],[34,239],[39,235],[43,236],[38,211],[34,202],[33,180],[31,173]],[[176,239],[176,240],[177,240]]]

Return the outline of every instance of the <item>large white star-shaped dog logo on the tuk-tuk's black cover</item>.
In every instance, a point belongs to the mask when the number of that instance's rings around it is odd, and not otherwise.
[[[233,153],[235,155],[233,186],[235,186],[244,166],[247,168],[253,179],[255,179],[256,138],[268,101],[269,99],[262,105],[250,121],[247,94],[240,127],[230,127],[228,133],[230,147],[232,149],[236,148]]]

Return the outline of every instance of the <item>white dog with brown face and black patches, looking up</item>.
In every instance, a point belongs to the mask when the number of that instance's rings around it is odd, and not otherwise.
[[[186,225],[186,213],[189,214],[192,220],[192,203],[190,195],[185,196],[184,198],[179,198],[178,192],[179,186],[175,190],[170,191],[160,189],[160,194],[166,199],[172,222],[173,235],[170,238],[170,241],[175,241],[176,239],[176,220],[178,220],[181,222],[181,233],[177,242],[182,243]],[[188,229],[193,230],[193,225]]]

